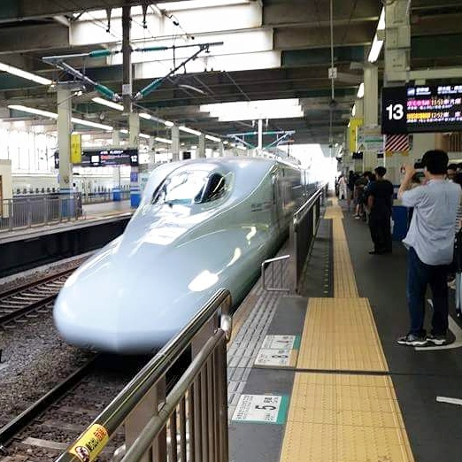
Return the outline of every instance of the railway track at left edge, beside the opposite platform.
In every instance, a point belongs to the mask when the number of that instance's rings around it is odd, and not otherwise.
[[[27,318],[49,312],[59,289],[74,270],[68,269],[40,281],[0,292],[0,327],[14,327],[18,323],[27,322]]]

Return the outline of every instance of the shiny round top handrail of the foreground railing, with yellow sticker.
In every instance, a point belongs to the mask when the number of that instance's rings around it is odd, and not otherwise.
[[[127,420],[128,415],[143,397],[147,396],[152,389],[164,377],[167,370],[180,358],[181,354],[189,347],[194,337],[201,329],[217,314],[219,314],[219,331],[222,331],[227,341],[231,337],[232,319],[228,313],[231,306],[231,294],[227,289],[219,289],[204,307],[196,313],[189,321],[189,324],[181,329],[166,345],[158,351],[158,354],[142,368],[122,389],[117,397],[112,400],[103,412],[85,429],[84,432],[69,447],[69,450],[86,435],[93,435],[95,427],[104,427],[107,437],[97,445],[91,452],[89,462],[95,460],[97,455],[104,449],[104,446],[118,427]],[[226,359],[225,359],[226,361]],[[226,364],[226,363],[225,363]],[[226,382],[224,384],[226,389]],[[73,453],[67,450],[57,459],[57,462],[81,462]]]

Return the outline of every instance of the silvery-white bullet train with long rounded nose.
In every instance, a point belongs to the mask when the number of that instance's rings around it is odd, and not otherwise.
[[[237,304],[286,238],[302,170],[263,158],[158,166],[123,235],[65,282],[53,310],[66,343],[158,350],[219,288]]]

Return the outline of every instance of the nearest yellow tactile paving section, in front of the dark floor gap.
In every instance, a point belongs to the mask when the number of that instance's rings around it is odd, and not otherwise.
[[[281,462],[412,462],[385,376],[296,373]]]

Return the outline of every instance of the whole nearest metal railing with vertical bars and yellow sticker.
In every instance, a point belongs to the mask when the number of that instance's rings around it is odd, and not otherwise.
[[[122,424],[122,462],[227,462],[230,306],[229,291],[220,289],[57,462],[93,462]],[[166,374],[187,350],[189,367],[166,395]]]

